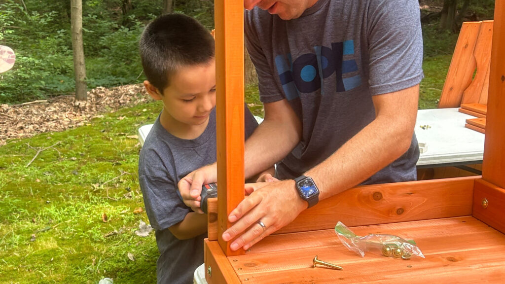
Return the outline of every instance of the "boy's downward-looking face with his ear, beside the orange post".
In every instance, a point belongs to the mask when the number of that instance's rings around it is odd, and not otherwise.
[[[212,109],[216,106],[214,59],[209,63],[179,67],[170,76],[169,82],[161,96],[158,89],[155,88],[156,92],[153,93],[146,86],[151,97],[163,101],[167,123],[179,129],[206,123]]]

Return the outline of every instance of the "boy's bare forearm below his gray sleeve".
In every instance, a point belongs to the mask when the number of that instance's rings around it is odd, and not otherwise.
[[[207,214],[189,212],[184,220],[168,228],[179,240],[188,240],[207,231]]]

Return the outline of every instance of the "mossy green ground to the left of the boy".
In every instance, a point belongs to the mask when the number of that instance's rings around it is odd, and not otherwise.
[[[136,131],[158,112],[126,108],[0,148],[0,283],[156,282],[155,236],[135,235],[148,220],[133,210],[143,207]],[[27,167],[37,153],[27,144],[57,145]]]

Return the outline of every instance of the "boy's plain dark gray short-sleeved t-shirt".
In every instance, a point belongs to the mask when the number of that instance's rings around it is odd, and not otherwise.
[[[258,122],[247,107],[244,108],[247,138]],[[138,162],[138,177],[145,211],[150,225],[156,230],[160,251],[158,283],[193,283],[195,269],[204,263],[204,238],[207,238],[207,233],[189,240],[178,240],[168,228],[191,212],[179,196],[179,180],[215,161],[216,109],[212,111],[204,133],[196,139],[175,137],[163,128],[159,117],[145,138]]]

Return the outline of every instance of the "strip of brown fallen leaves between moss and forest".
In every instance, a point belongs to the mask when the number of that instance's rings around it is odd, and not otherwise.
[[[152,101],[142,84],[110,89],[97,87],[87,95],[86,102],[78,102],[74,96],[61,96],[20,105],[0,105],[0,146],[9,139],[63,131],[84,125],[105,112]]]

